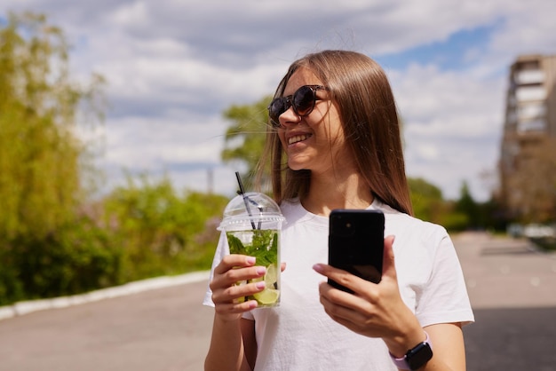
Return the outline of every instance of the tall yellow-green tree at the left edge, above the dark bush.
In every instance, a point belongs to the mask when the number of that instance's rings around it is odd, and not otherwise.
[[[70,79],[68,44],[44,16],[11,14],[0,29],[0,238],[44,236],[73,216],[85,153],[75,118],[99,83]]]

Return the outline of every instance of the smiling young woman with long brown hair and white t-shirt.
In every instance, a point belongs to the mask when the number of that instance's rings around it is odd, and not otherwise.
[[[204,300],[215,307],[205,369],[464,370],[461,328],[473,321],[465,281],[444,228],[411,217],[384,71],[353,51],[309,54],[290,66],[269,116],[266,158],[286,217],[281,304],[235,300],[263,288],[234,282],[265,268],[229,255],[223,236]],[[332,209],[384,212],[380,283],[323,263]]]

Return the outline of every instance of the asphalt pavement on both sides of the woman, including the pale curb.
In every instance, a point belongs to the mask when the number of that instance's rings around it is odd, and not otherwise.
[[[556,254],[527,241],[454,237],[476,322],[469,370],[556,370]],[[0,308],[0,371],[197,371],[213,311],[206,272]],[[46,309],[45,309],[46,308]]]

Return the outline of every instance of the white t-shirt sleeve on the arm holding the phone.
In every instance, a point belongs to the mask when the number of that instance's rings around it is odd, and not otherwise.
[[[439,323],[471,323],[474,321],[473,310],[454,244],[445,231],[436,241],[431,276],[424,289],[417,293],[417,319],[423,327]]]

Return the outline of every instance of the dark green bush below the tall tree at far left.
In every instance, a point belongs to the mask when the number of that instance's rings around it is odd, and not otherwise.
[[[121,253],[105,231],[82,219],[43,237],[19,235],[3,251],[0,304],[77,294],[117,282]]]

